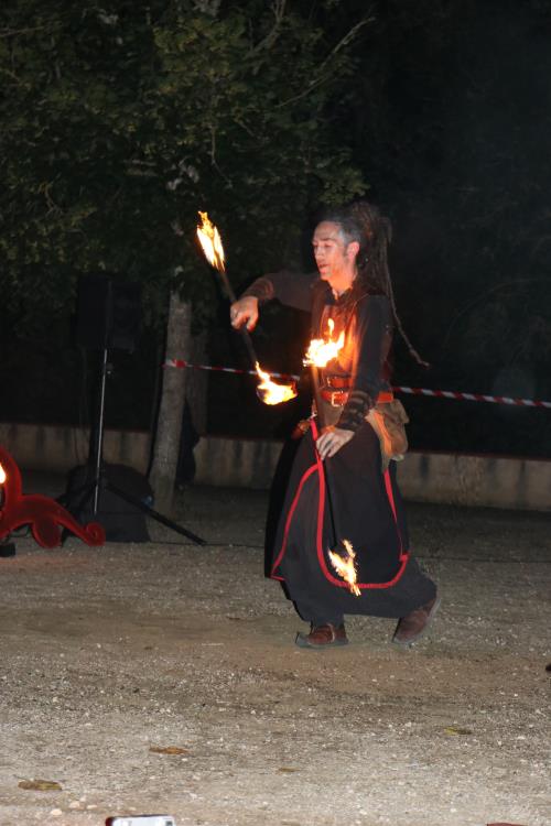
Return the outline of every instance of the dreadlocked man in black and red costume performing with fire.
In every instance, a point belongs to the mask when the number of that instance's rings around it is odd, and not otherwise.
[[[327,333],[339,343],[314,371],[316,415],[296,452],[271,568],[311,623],[310,633],[296,637],[301,648],[345,645],[348,613],[399,619],[392,641],[409,645],[440,601],[409,554],[396,481],[408,420],[389,384],[395,324],[419,357],[396,312],[389,241],[390,222],[375,206],[335,209],[314,231],[318,274],[264,275],[230,308],[233,326],[251,330],[259,305],[278,298],[311,309],[317,343]]]

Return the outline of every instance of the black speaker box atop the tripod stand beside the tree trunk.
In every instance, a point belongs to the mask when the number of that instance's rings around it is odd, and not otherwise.
[[[88,350],[136,349],[141,319],[141,287],[107,273],[78,282],[76,343]]]

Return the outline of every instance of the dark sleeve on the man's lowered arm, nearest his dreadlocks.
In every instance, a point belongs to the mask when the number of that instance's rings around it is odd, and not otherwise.
[[[377,403],[383,367],[392,340],[392,316],[387,297],[370,295],[356,307],[353,381],[337,427],[356,431]]]

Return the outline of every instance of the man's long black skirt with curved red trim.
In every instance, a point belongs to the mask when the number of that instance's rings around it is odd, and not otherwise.
[[[300,445],[274,543],[271,576],[307,621],[345,613],[403,617],[430,601],[435,586],[409,553],[396,463],[381,468],[379,439],[365,422],[338,453],[322,463],[315,421]],[[355,553],[355,585],[336,570],[329,552]]]

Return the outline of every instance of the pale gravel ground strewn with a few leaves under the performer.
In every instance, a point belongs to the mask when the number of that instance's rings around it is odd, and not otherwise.
[[[549,824],[549,514],[410,503],[443,597],[428,639],[352,618],[311,652],[262,576],[267,506],[191,487],[204,548],[152,523],[0,559],[0,824]]]

